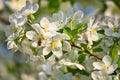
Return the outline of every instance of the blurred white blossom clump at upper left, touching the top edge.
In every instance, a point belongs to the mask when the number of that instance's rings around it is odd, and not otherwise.
[[[26,5],[21,10],[10,15],[9,21],[16,28],[21,27],[27,22],[27,16],[29,14],[35,13],[37,10],[38,4],[31,5],[30,1],[26,0]]]

